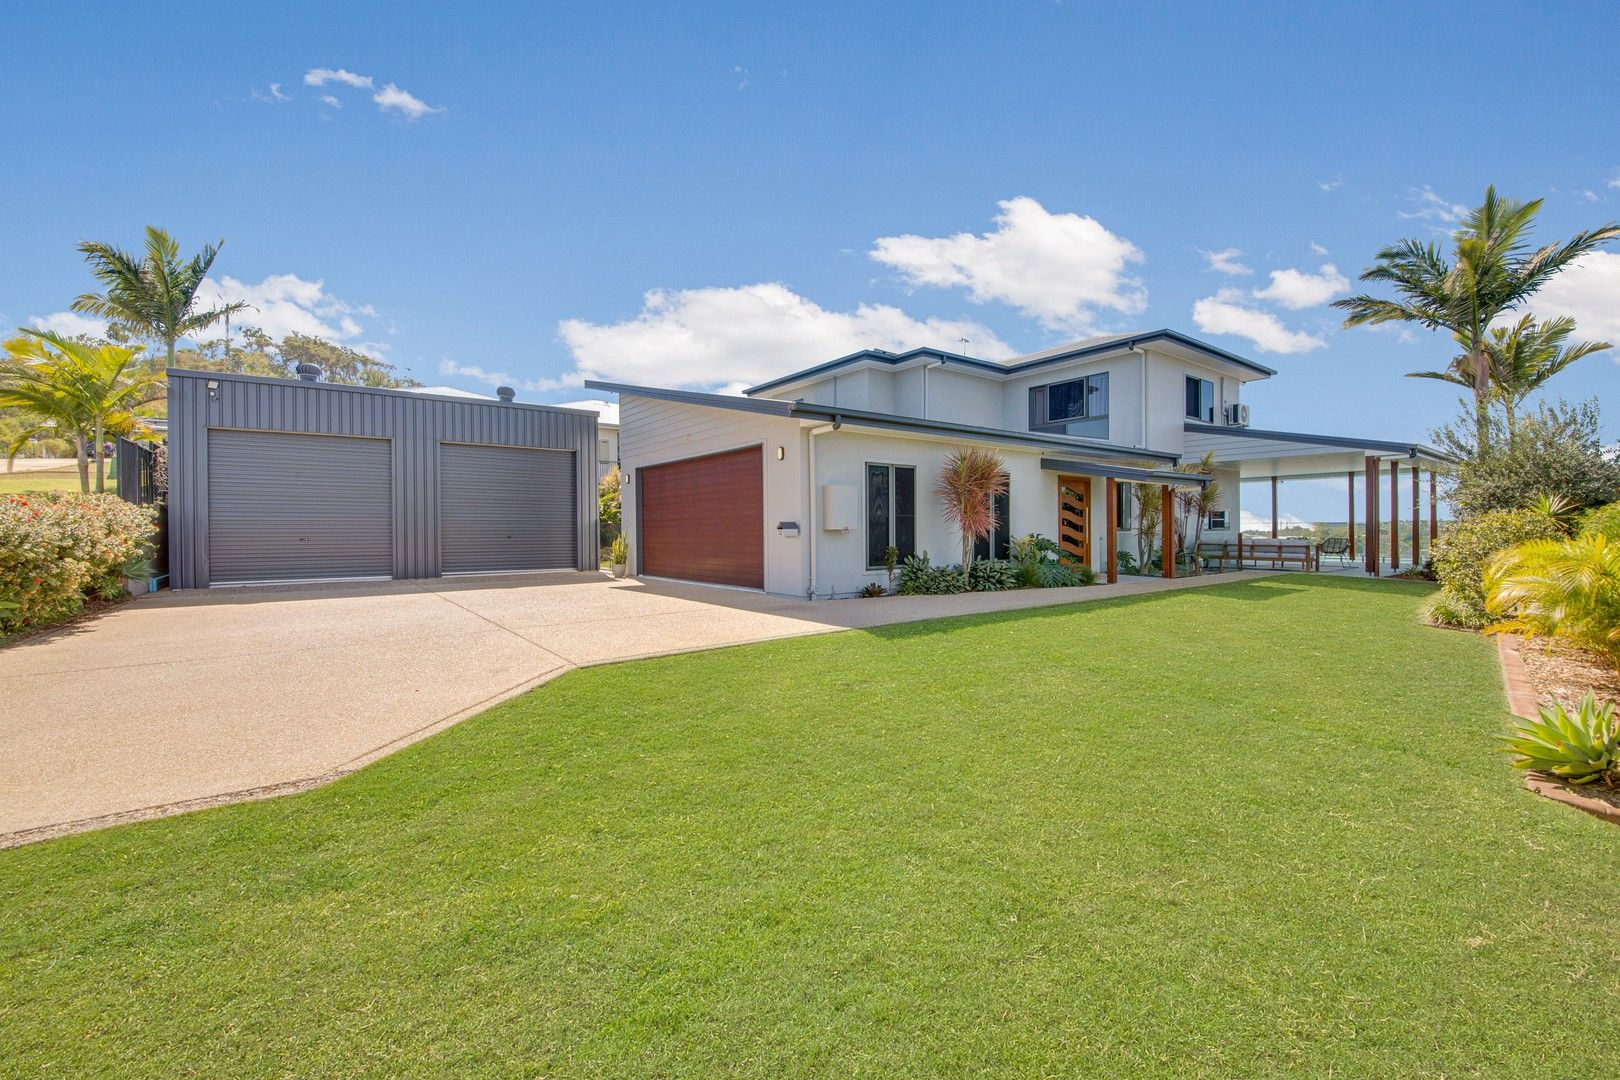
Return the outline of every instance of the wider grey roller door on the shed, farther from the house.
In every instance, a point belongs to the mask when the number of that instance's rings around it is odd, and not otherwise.
[[[207,434],[209,581],[394,575],[387,439]]]

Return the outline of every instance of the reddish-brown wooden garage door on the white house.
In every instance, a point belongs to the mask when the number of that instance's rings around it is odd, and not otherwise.
[[[758,447],[640,470],[642,573],[765,588]]]

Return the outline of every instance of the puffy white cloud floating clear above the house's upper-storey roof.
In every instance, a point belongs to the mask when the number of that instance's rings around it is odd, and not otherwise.
[[[1027,196],[998,206],[995,232],[883,236],[870,256],[910,285],[964,287],[975,303],[1009,303],[1053,330],[1090,330],[1097,308],[1136,314],[1147,306],[1142,282],[1126,272],[1142,261],[1129,240]]]

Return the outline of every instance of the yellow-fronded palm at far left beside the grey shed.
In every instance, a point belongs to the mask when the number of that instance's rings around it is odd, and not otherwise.
[[[162,397],[162,372],[130,372],[141,347],[86,345],[49,330],[24,330],[5,343],[0,358],[0,405],[37,416],[40,423],[16,439],[16,457],[28,436],[57,421],[73,436],[79,460],[79,491],[89,491],[86,444],[97,447],[109,431],[133,426],[138,405]],[[96,455],[96,491],[107,491],[107,458]]]

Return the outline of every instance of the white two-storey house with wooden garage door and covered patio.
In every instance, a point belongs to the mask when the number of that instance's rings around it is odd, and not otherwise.
[[[1398,494],[1406,463],[1416,515],[1416,468],[1435,460],[1432,450],[1252,429],[1243,387],[1273,374],[1153,330],[1008,361],[865,350],[742,397],[586,385],[619,395],[633,573],[831,597],[886,581],[889,547],[961,559],[933,484],[962,445],[993,449],[1006,463],[1008,494],[982,555],[1004,557],[1011,538],[1042,533],[1110,578],[1115,551],[1134,547],[1132,499],[1168,505],[1174,487],[1200,484],[1176,465],[1207,450],[1223,491],[1204,521],[1209,539],[1236,536],[1239,481],[1257,476],[1348,478],[1354,517],[1356,471],[1371,478],[1375,510],[1382,465],[1390,461]],[[1377,552],[1367,565],[1375,572]]]

